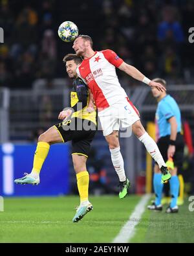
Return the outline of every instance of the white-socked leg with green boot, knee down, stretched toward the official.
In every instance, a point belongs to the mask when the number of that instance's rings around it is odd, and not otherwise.
[[[133,133],[138,137],[138,139],[142,143],[144,143],[147,152],[151,155],[151,157],[153,157],[153,159],[155,159],[156,163],[158,163],[160,171],[162,172],[162,181],[164,182],[166,180],[169,180],[171,178],[171,174],[167,170],[166,163],[164,162],[164,159],[160,154],[160,150],[158,149],[155,141],[149,136],[149,134],[147,134],[140,120],[136,121],[132,125],[132,130]]]

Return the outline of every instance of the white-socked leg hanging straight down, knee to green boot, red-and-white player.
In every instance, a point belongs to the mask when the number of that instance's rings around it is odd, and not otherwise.
[[[130,181],[125,176],[124,159],[120,152],[118,131],[113,131],[112,134],[105,136],[105,139],[109,144],[109,150],[111,152],[111,159],[113,162],[113,166],[120,180],[119,198],[122,199],[127,195],[127,191],[130,186]]]

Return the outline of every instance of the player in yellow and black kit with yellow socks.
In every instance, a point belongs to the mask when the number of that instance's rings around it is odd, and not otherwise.
[[[92,111],[88,111],[89,105],[91,106],[89,89],[76,73],[76,68],[81,61],[76,54],[67,54],[63,58],[69,78],[73,79],[73,87],[70,92],[71,108],[59,113],[58,119],[63,120],[62,122],[50,127],[39,136],[32,172],[25,173],[23,178],[14,181],[20,184],[38,185],[39,173],[48,155],[50,145],[72,141],[72,161],[80,194],[80,206],[72,219],[73,222],[81,220],[93,208],[89,202],[89,173],[86,162],[92,139],[96,133],[96,110],[93,108]]]

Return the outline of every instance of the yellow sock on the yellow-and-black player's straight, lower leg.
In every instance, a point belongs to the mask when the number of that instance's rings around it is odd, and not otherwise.
[[[80,194],[80,202],[88,201],[88,190],[89,190],[89,173],[79,172],[76,174],[78,191]]]

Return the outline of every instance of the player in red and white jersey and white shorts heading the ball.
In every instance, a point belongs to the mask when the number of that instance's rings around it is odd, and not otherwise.
[[[158,146],[147,134],[140,122],[138,110],[127,97],[125,90],[120,86],[115,67],[118,67],[136,80],[148,84],[150,87],[156,87],[159,91],[165,91],[166,88],[162,84],[149,80],[138,69],[125,63],[114,51],[94,51],[90,36],[78,36],[74,40],[72,48],[77,56],[83,58],[77,73],[91,89],[94,102],[98,108],[103,135],[109,144],[113,166],[120,180],[119,197],[124,198],[126,196],[130,185],[125,176],[124,160],[120,153],[118,140],[120,124],[123,128],[132,126],[133,133],[144,143],[149,154],[158,163],[162,172],[162,181],[169,180],[171,174],[167,170]]]

